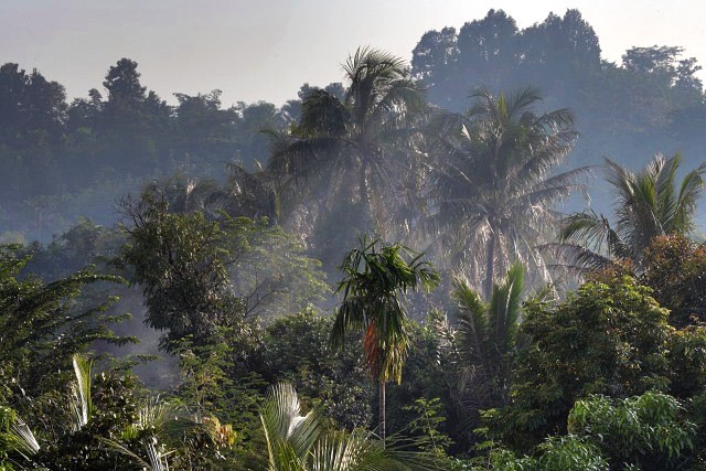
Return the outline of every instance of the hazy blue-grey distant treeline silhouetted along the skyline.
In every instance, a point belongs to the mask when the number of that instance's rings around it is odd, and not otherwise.
[[[502,10],[422,35],[411,73],[430,103],[459,111],[478,86],[491,92],[537,86],[547,109],[568,107],[580,139],[569,162],[603,156],[628,165],[663,151],[704,154],[706,124],[696,58],[678,46],[633,47],[621,64],[601,58],[598,36],[579,11],[520,30]],[[174,173],[216,176],[224,162],[266,164],[271,137],[296,126],[304,84],[282,107],[224,107],[220,90],[174,94],[170,106],[140,83],[129,58],[110,66],[101,90],[68,103],[64,87],[18,64],[0,67],[0,235],[49,239],[78,215],[115,220],[115,200]],[[224,84],[227,86],[227,84]],[[334,95],[341,84],[327,87]]]

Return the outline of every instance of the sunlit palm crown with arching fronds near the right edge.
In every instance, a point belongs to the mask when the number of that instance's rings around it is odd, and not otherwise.
[[[706,162],[677,180],[680,154],[656,154],[633,173],[606,159],[606,181],[616,196],[616,223],[591,210],[564,220],[554,251],[578,269],[606,268],[619,259],[640,269],[643,250],[661,235],[694,229],[696,203],[704,190]]]

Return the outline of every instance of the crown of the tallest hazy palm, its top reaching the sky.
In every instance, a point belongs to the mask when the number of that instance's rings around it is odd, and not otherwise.
[[[343,71],[345,95],[314,89],[307,96],[299,125],[279,136],[268,169],[290,175],[290,183],[323,186],[328,200],[349,191],[344,197],[360,205],[363,226],[382,226],[389,205],[403,203],[399,175],[414,173],[413,122],[425,100],[405,62],[382,51],[359,49]],[[301,186],[291,185],[299,194]]]

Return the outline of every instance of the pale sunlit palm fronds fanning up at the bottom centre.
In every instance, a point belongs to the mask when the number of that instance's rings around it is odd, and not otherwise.
[[[260,413],[270,471],[377,471],[436,469],[431,457],[403,451],[394,443],[356,430],[324,433],[314,411],[300,415],[297,393],[287,383],[274,386]]]

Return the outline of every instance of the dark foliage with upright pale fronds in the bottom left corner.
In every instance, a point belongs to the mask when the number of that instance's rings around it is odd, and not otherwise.
[[[12,462],[53,470],[206,469],[221,449],[234,443],[231,426],[145,398],[130,377],[101,375],[94,400],[90,362],[75,355],[74,365],[71,392],[56,408],[64,408],[67,422],[36,418],[45,429],[35,436],[19,417],[9,416],[0,441]]]

